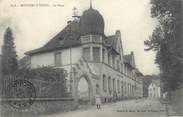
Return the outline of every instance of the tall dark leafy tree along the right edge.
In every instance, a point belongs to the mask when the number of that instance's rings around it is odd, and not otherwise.
[[[156,51],[155,62],[161,70],[163,92],[175,90],[182,83],[181,0],[151,0],[151,15],[159,24],[144,44]]]

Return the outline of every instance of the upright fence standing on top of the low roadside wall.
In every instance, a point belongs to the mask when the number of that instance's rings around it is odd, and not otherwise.
[[[17,79],[24,79],[16,76],[4,76],[1,79],[0,91],[1,98],[5,98],[7,95],[7,89],[11,82]],[[36,90],[36,98],[62,98],[70,97],[66,89],[63,86],[63,82],[60,81],[43,81],[37,79],[25,79],[31,82]]]

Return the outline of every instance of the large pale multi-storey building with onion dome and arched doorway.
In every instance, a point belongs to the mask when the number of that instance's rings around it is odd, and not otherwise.
[[[134,53],[124,55],[121,32],[117,30],[107,36],[104,27],[103,16],[91,6],[43,47],[27,52],[30,67],[67,70],[67,89],[76,100],[78,84],[83,78],[88,84],[91,103],[96,94],[104,102],[114,97],[142,97],[142,74],[135,66]]]

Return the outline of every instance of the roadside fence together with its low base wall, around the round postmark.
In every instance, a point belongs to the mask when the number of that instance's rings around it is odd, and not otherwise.
[[[12,108],[8,103],[9,101],[22,101],[26,98],[7,98],[7,89],[9,84],[17,79],[22,79],[15,76],[4,76],[0,79],[0,116],[17,116],[17,117],[33,117],[38,115],[48,115],[54,113],[60,113],[65,111],[75,110],[78,107],[78,103],[67,94],[63,93],[63,82],[60,81],[43,81],[37,79],[24,79],[31,82],[36,90],[36,98],[33,104],[25,109]]]

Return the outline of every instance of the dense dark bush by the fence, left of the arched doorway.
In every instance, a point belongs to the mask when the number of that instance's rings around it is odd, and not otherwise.
[[[36,69],[21,69],[16,77],[31,81],[36,88],[36,95],[40,98],[67,97],[66,72],[61,68],[42,67]]]

